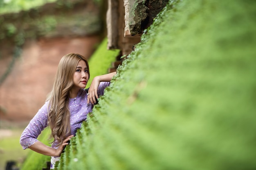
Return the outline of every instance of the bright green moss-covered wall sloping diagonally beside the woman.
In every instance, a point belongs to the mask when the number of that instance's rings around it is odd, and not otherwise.
[[[256,169],[256,1],[170,1],[56,169]]]

